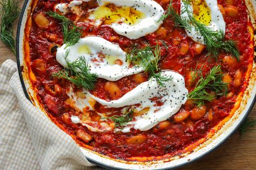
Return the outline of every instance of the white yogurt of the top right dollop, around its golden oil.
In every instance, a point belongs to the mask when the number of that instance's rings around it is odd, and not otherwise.
[[[211,22],[209,25],[207,25],[207,27],[209,27],[211,30],[213,31],[223,31],[223,33],[225,34],[226,31],[226,23],[224,21],[223,15],[220,12],[219,8],[218,8],[218,2],[217,0],[205,0],[205,3],[207,5],[207,7],[210,9],[210,13],[208,15],[211,15]],[[188,19],[189,20],[189,14],[188,12],[185,10],[185,4],[184,2],[181,0],[180,1],[180,11],[181,12],[180,16],[184,19]],[[193,14],[193,6],[192,5],[188,5],[187,9],[190,11],[190,13]],[[207,15],[205,13],[205,15]],[[187,36],[190,37],[193,41],[198,42],[199,44],[204,44],[204,37],[203,35],[196,30],[196,28],[191,25],[191,29],[185,29]]]

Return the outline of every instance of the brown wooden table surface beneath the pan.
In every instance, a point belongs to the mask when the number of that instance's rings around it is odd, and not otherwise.
[[[20,1],[19,5],[22,6],[22,4],[23,1]],[[16,27],[17,20],[14,25],[15,33]],[[0,65],[7,59],[16,61],[10,49],[0,42]],[[249,118],[256,120],[256,105],[254,105]],[[250,131],[247,131],[242,136],[239,131],[236,131],[224,144],[205,155],[205,157],[178,169],[256,169],[255,134],[256,126],[250,128]]]

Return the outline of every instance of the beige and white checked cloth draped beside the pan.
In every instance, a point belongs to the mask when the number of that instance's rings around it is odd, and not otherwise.
[[[0,69],[0,169],[102,169],[26,99],[17,65]]]

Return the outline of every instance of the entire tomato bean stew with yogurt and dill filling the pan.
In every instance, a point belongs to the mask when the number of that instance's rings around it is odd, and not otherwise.
[[[239,108],[253,36],[244,0],[35,0],[24,62],[41,107],[78,145],[161,160]]]

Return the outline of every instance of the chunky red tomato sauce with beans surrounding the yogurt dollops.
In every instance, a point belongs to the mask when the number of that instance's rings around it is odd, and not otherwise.
[[[219,60],[206,56],[205,47],[196,44],[183,29],[175,27],[171,19],[166,19],[158,31],[137,40],[130,40],[118,35],[109,26],[96,27],[90,22],[84,22],[86,14],[77,18],[73,13],[68,13],[66,17],[73,20],[77,26],[82,27],[82,37],[97,35],[118,44],[125,52],[131,51],[134,45],[144,47],[146,44],[156,45],[158,43],[161,51],[160,68],[174,70],[183,75],[186,88],[189,91],[193,90],[195,85],[194,82],[191,82],[190,75],[191,70],[195,70],[196,66],[198,68],[201,67],[203,75],[205,75],[213,66],[220,64],[224,74],[228,75],[226,77],[227,80],[230,80],[227,96],[218,97],[212,102],[205,102],[203,108],[197,108],[196,104],[187,101],[177,113],[186,115],[184,119],[174,115],[164,123],[160,123],[148,131],[132,129],[130,133],[116,133],[113,131],[98,133],[92,132],[80,124],[73,124],[70,116],[77,115],[77,112],[65,102],[69,98],[66,94],[66,89],[70,86],[70,82],[52,77],[53,73],[63,68],[56,61],[56,53],[51,52],[52,45],[63,45],[62,25],[58,20],[47,15],[45,15],[49,20],[47,28],[39,27],[35,22],[35,17],[38,13],[52,11],[56,4],[64,2],[70,1],[38,1],[31,17],[29,64],[36,76],[36,81],[33,81],[32,85],[38,91],[38,100],[42,102],[49,116],[57,124],[62,125],[62,129],[82,146],[89,147],[91,150],[109,157],[124,160],[129,160],[132,157],[177,155],[184,152],[187,146],[206,137],[215,125],[218,125],[220,121],[230,115],[234,103],[237,102],[237,96],[247,86],[245,76],[248,65],[253,62],[253,47],[250,46],[253,42],[248,31],[250,21],[247,19],[244,0],[233,1],[232,6],[239,11],[238,17],[229,16],[227,11],[224,16],[226,22],[225,38],[237,42],[237,47],[240,51],[239,61],[232,58],[230,54],[223,52],[220,53]],[[157,0],[157,2],[165,10],[169,5],[169,1]],[[218,0],[218,3],[224,9],[230,5],[224,0]],[[179,1],[174,0],[173,6],[179,9]],[[96,1],[93,0],[83,3],[84,9],[96,7]],[[167,48],[163,43],[166,44]],[[95,89],[90,92],[107,101],[120,98],[138,86],[139,83],[147,81],[149,77],[147,74],[142,73],[139,75],[140,79],[138,81],[136,76],[127,76],[114,82],[121,91],[116,96],[111,96],[105,91],[104,86],[107,80],[104,79],[98,79]],[[76,87],[75,90],[79,91],[79,88]],[[99,112],[106,111],[98,103],[95,107]],[[114,115],[118,114],[118,109],[109,109],[107,111],[114,112]],[[198,114],[198,112],[202,115],[194,115],[195,113]],[[93,115],[93,112],[91,112],[91,115]],[[83,134],[89,134],[90,137],[86,139]]]

